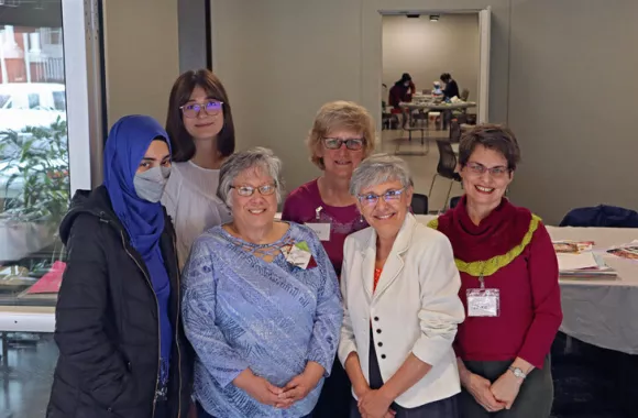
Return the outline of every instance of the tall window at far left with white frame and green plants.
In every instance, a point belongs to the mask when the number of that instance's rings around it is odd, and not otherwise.
[[[73,187],[90,187],[90,141],[100,142],[102,130],[95,128],[101,103],[95,109],[97,76],[87,63],[95,62],[88,54],[101,57],[97,29],[87,33],[85,26],[95,2],[1,4],[0,361],[15,373],[3,376],[0,417],[43,417],[65,267],[57,228]],[[25,345],[32,350],[20,350]]]

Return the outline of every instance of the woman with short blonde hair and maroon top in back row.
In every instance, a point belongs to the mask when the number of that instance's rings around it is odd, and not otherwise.
[[[354,168],[373,152],[374,138],[374,121],[365,108],[351,101],[323,105],[307,140],[310,161],[323,174],[293,190],[284,202],[282,219],[306,223],[317,232],[338,276],[345,237],[367,227],[349,187]],[[336,361],[314,416],[346,418],[349,414],[350,380]]]

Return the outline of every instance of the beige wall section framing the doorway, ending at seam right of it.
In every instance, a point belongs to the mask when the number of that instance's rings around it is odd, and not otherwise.
[[[345,99],[377,119],[381,10],[477,11],[492,6],[490,117],[507,118],[509,0],[212,0],[213,70],[228,89],[238,147],[268,146],[287,189],[316,177],[304,141],[319,107]]]

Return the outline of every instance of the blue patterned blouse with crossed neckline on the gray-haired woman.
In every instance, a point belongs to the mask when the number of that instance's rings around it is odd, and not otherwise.
[[[302,270],[280,252],[267,262],[255,253],[306,241],[316,266]],[[232,381],[246,367],[284,387],[308,361],[329,374],[343,310],[334,270],[315,233],[290,223],[275,244],[255,245],[222,227],[193,245],[184,270],[183,318],[195,348],[195,397],[223,418],[304,417],[312,411],[323,378],[288,409],[263,405]]]

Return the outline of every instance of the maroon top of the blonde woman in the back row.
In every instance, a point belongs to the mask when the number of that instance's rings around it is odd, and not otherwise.
[[[317,220],[316,209],[322,207]],[[356,205],[337,207],[329,206],[321,200],[317,179],[299,186],[288,195],[284,202],[282,219],[297,223],[330,222],[330,241],[321,241],[337,276],[341,275],[343,263],[343,242],[345,237],[367,228],[367,222],[361,217]]]

